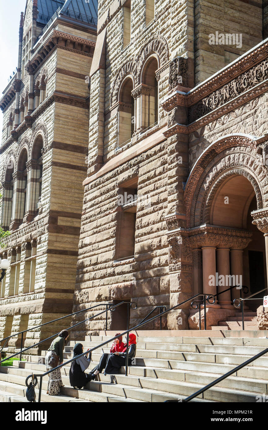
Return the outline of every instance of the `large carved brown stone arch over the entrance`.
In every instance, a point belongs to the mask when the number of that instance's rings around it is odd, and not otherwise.
[[[268,192],[265,191],[268,173],[256,149],[254,138],[242,134],[224,136],[206,148],[185,187],[188,228],[207,222],[213,189],[216,191],[217,181],[219,186],[228,175],[245,176],[253,185],[258,208],[268,206]]]

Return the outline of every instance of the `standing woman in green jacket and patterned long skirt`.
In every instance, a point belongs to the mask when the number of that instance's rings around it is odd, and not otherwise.
[[[63,350],[68,336],[69,333],[67,332],[67,330],[62,330],[59,335],[52,341],[45,359],[46,372],[53,369],[53,367],[56,367],[55,365],[52,367],[49,364],[52,358],[55,360],[55,364],[57,364],[58,362],[57,366],[63,363]],[[61,387],[63,387],[61,369],[57,369],[54,372],[48,374],[48,385],[46,394],[49,394],[49,396],[58,396],[61,391]]]

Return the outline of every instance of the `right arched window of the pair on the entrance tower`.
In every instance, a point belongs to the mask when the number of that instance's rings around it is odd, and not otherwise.
[[[142,84],[148,88],[148,108],[145,102],[145,128],[158,122],[158,82],[155,72],[158,69],[158,61],[150,57],[146,61],[142,71]]]

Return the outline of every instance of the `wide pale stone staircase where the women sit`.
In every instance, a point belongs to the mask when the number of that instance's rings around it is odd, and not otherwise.
[[[181,335],[180,335],[181,334]],[[240,336],[246,336],[244,338]],[[62,368],[60,396],[48,396],[47,377],[43,380],[42,402],[164,402],[184,399],[236,365],[268,347],[267,332],[188,331],[138,332],[136,365],[129,376],[99,375],[82,390],[70,387],[69,365]],[[84,348],[98,346],[113,335],[86,336]],[[231,337],[233,336],[233,337]],[[65,347],[64,359],[72,357],[74,341]],[[109,347],[92,353],[92,369]],[[15,361],[12,367],[0,367],[0,401],[27,402],[25,379],[31,373],[46,371],[42,355]],[[38,378],[38,381],[40,378]],[[268,356],[241,369],[217,386],[194,399],[195,402],[256,402],[256,396],[268,393]],[[38,395],[38,389],[36,389]]]

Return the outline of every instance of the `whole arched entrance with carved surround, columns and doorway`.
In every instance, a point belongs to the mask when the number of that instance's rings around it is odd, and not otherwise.
[[[253,136],[225,136],[206,148],[186,183],[182,235],[192,259],[183,251],[180,261],[188,268],[192,263],[193,294],[218,295],[210,306],[213,325],[232,315],[242,285],[249,294],[267,288],[268,174],[260,149]],[[183,271],[179,276],[183,279]],[[238,288],[219,294],[230,286]],[[249,307],[260,304],[252,301]]]

